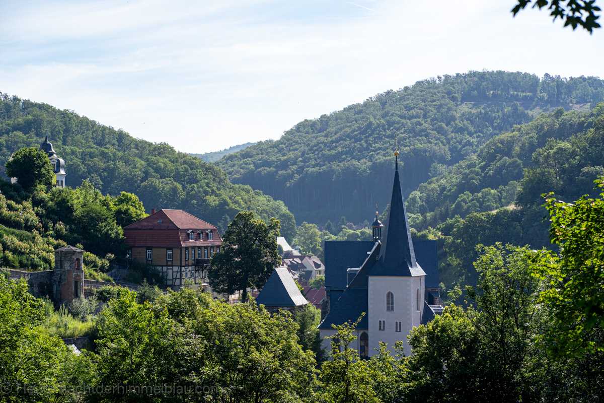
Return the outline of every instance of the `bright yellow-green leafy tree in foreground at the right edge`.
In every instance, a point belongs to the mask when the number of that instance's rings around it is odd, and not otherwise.
[[[604,188],[604,178],[597,179]],[[547,199],[550,240],[560,248],[541,251],[535,272],[549,286],[541,300],[553,311],[554,323],[544,335],[557,355],[582,356],[604,350],[604,193],[583,196],[574,204]]]

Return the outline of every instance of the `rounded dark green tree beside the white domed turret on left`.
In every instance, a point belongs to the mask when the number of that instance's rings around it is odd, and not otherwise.
[[[13,159],[4,164],[6,174],[18,179],[25,190],[38,185],[53,185],[56,181],[53,167],[45,152],[36,147],[25,147],[14,153]]]

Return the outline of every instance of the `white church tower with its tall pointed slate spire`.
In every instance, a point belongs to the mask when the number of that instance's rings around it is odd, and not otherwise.
[[[410,353],[407,335],[422,322],[425,276],[417,264],[399,178],[398,151],[394,153],[394,184],[384,240],[368,273],[369,350],[379,342],[393,347],[402,340]]]

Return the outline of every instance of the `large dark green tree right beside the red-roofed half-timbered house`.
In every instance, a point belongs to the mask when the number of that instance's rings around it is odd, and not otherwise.
[[[277,250],[279,222],[269,224],[254,218],[251,211],[237,213],[222,237],[222,250],[214,254],[208,270],[210,286],[217,292],[233,294],[248,288],[262,288],[275,267],[281,264]]]

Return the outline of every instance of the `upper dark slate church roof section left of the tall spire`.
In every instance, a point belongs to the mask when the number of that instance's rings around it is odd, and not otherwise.
[[[325,242],[325,284],[333,289],[348,285],[347,269],[361,267],[367,252],[373,248],[372,240],[327,240]]]

